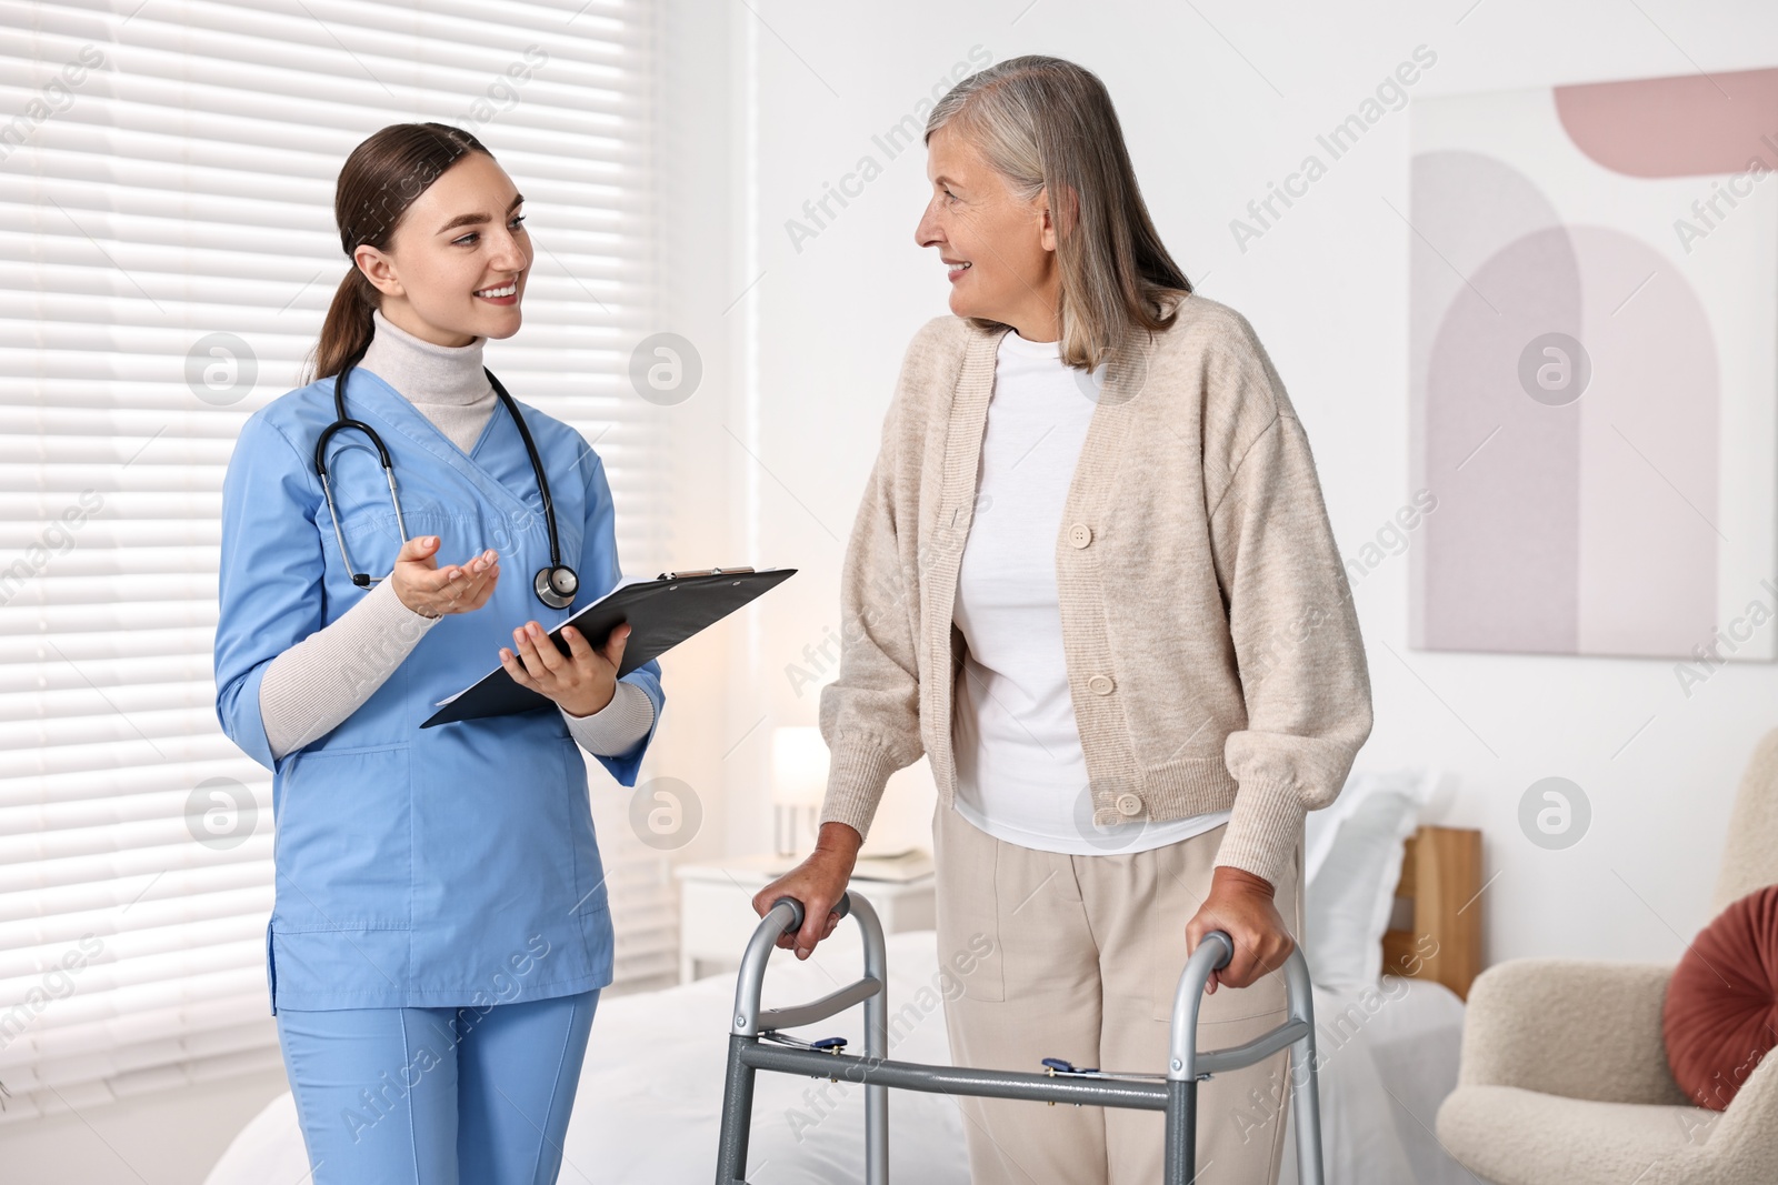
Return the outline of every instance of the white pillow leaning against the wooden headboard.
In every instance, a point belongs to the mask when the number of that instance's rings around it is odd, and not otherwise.
[[[1332,805],[1309,812],[1301,938],[1316,986],[1380,982],[1403,840],[1419,824],[1431,782],[1422,769],[1353,771]]]

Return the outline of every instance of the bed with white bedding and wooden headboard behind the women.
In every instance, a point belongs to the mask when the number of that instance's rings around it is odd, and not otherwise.
[[[1367,810],[1364,799],[1374,794],[1357,794],[1344,815],[1310,828],[1305,901],[1314,908],[1305,915],[1305,954],[1310,954],[1312,974],[1317,966],[1312,927],[1317,924],[1325,940],[1348,929],[1382,931],[1380,938],[1367,938],[1362,958],[1348,959],[1346,966],[1339,959],[1319,961],[1316,1020],[1326,1180],[1330,1185],[1474,1185],[1476,1178],[1433,1137],[1433,1116],[1456,1086],[1463,997],[1479,970],[1481,840],[1470,830],[1415,826],[1414,812],[1424,807],[1424,782],[1398,780],[1396,787],[1408,787],[1408,807],[1373,803]],[[1387,799],[1389,791],[1382,798]],[[1348,865],[1358,869],[1357,878],[1344,876]],[[1373,878],[1382,887],[1378,892],[1369,892]],[[1358,888],[1351,879],[1360,881]],[[1325,890],[1319,897],[1317,883]],[[1332,904],[1344,910],[1344,920]],[[1364,926],[1346,926],[1355,919]],[[1326,942],[1323,950],[1332,954]],[[1353,954],[1344,947],[1341,952]],[[1369,975],[1369,966],[1380,972]],[[836,982],[855,979],[857,968],[852,927],[837,931],[805,963],[775,952],[766,974],[766,1004],[816,998]],[[905,1016],[891,1038],[893,1057],[949,1061],[937,986],[933,933],[893,934],[889,998]],[[713,975],[601,1000],[564,1141],[564,1183],[709,1181],[733,997],[733,975]],[[845,1036],[852,1048],[861,1048],[857,1009],[818,1029],[802,1036]],[[889,1162],[896,1180],[967,1183],[955,1100],[893,1091],[889,1116]],[[1294,1185],[1289,1119],[1285,1126],[1280,1180]],[[862,1146],[861,1087],[759,1075],[749,1181],[857,1181],[862,1180]],[[295,1181],[306,1171],[295,1105],[286,1093],[235,1137],[206,1185]]]

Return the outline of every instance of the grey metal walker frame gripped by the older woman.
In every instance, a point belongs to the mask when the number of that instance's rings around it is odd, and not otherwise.
[[[802,929],[802,903],[779,897],[759,920],[741,958],[734,986],[734,1016],[729,1027],[729,1068],[722,1087],[722,1135],[717,1151],[717,1185],[747,1185],[747,1135],[752,1126],[754,1073],[773,1070],[811,1078],[845,1078],[864,1084],[864,1180],[889,1185],[889,1087],[932,1094],[981,1094],[1088,1107],[1133,1107],[1166,1112],[1165,1185],[1188,1185],[1197,1164],[1198,1080],[1252,1066],[1291,1048],[1291,1105],[1296,1112],[1296,1169],[1301,1185],[1325,1185],[1321,1174],[1321,1098],[1316,1093],[1316,1016],[1309,963],[1301,947],[1284,963],[1289,1014],[1282,1025],[1246,1045],[1200,1054],[1197,1050],[1198,1002],[1213,970],[1227,966],[1234,942],[1211,931],[1186,959],[1173,993],[1168,1071],[1163,1080],[1093,1075],[1017,1073],[965,1070],[889,1061],[889,1002],[884,931],[877,911],[862,895],[845,894],[836,906],[864,933],[864,975],[820,1000],[797,1007],[759,1007],[766,959],[779,936]],[[864,1004],[864,1057],[761,1043],[761,1036],[827,1020],[853,1004]],[[1307,1068],[1307,1075],[1301,1070]]]

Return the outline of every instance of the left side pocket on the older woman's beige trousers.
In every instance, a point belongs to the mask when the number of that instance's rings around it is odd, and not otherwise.
[[[1006,968],[996,888],[999,840],[942,801],[932,815],[939,965],[957,966],[964,1000],[1005,1000]],[[960,959],[960,961],[958,961]]]

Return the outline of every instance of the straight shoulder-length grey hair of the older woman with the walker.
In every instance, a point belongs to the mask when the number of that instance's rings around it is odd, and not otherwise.
[[[981,151],[1021,201],[1049,192],[1061,272],[1061,361],[1099,366],[1133,329],[1166,329],[1191,291],[1141,201],[1111,96],[1090,69],[1026,55],[964,78],[926,117]]]

